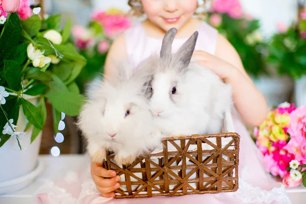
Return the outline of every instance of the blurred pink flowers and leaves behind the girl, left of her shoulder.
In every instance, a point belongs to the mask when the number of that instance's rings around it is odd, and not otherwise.
[[[77,81],[82,86],[103,66],[113,40],[131,26],[131,21],[118,9],[94,11],[87,27],[74,25],[72,36],[80,54],[88,60]],[[81,86],[80,85],[80,86]]]

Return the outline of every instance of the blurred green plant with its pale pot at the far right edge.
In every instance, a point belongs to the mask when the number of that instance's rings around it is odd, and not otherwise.
[[[296,106],[306,105],[306,9],[301,9],[299,21],[272,36],[268,60],[279,74],[288,74],[295,83]]]

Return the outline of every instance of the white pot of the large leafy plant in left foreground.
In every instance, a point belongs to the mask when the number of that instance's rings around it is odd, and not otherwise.
[[[38,103],[38,97],[28,97],[25,99],[29,100],[34,105],[37,105]],[[16,127],[16,131],[23,132],[26,124],[27,119],[25,118],[22,107],[20,106],[19,118],[16,124],[18,127]],[[2,147],[0,147],[0,194],[12,193],[20,190],[31,183],[34,179],[32,174],[35,169],[36,173],[38,173],[38,155],[42,132],[31,144],[32,130],[33,127],[27,131],[27,134],[24,135],[22,139],[19,140],[22,150],[19,149],[17,140],[13,138],[10,138]],[[27,174],[32,175],[32,180],[29,178],[24,179],[24,177],[27,177]],[[22,177],[23,179],[21,179]]]

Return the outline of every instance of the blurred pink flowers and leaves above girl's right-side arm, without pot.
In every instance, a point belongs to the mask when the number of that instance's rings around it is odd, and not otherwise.
[[[244,14],[238,0],[214,0],[207,21],[233,44],[249,74],[259,77],[268,73],[259,20]]]

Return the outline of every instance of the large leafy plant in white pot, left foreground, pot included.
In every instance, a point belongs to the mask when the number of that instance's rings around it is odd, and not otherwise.
[[[31,10],[29,2],[27,9]],[[16,178],[36,168],[46,120],[46,101],[53,107],[56,131],[62,112],[78,115],[85,97],[80,94],[75,79],[86,65],[86,59],[68,41],[71,23],[67,22],[65,28],[60,29],[60,15],[41,19],[31,10],[31,17],[23,18],[15,10],[4,12],[1,5],[0,10],[3,22],[0,24],[2,187],[3,182],[7,185],[12,180],[17,185]],[[23,184],[27,181],[23,180]],[[3,190],[0,194],[16,188],[0,188]]]

